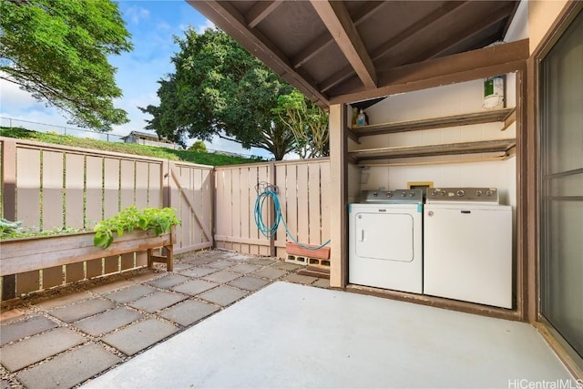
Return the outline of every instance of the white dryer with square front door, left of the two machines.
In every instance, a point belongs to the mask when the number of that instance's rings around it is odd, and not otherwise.
[[[349,205],[350,283],[423,292],[423,190],[365,190]]]

